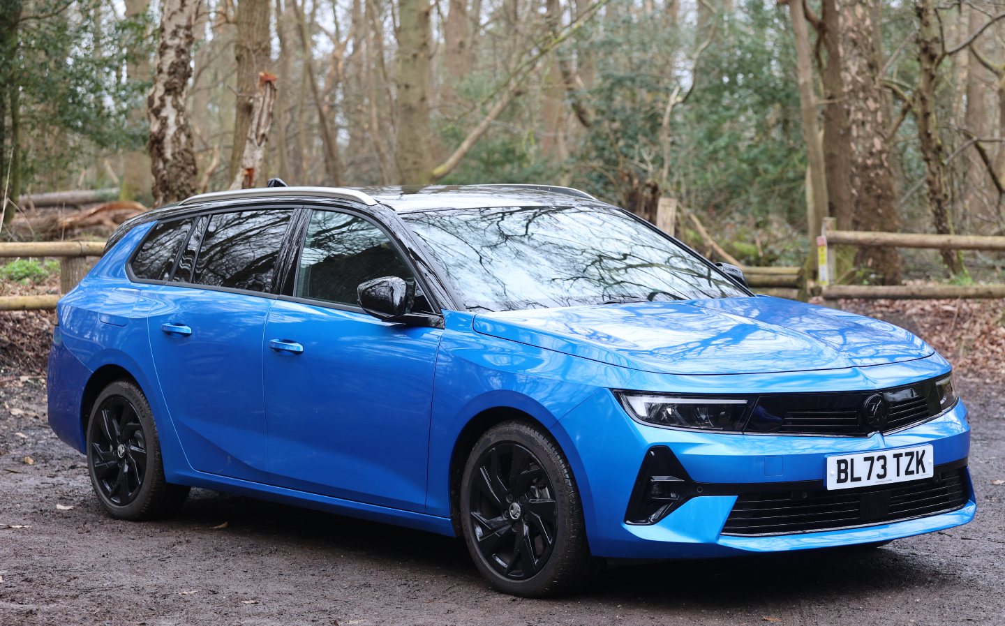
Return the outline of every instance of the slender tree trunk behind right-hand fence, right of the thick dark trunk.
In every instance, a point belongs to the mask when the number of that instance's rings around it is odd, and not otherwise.
[[[942,55],[942,35],[933,0],[915,3],[918,15],[919,80],[915,90],[915,116],[918,120],[918,139],[925,161],[925,181],[929,188],[929,204],[936,232],[953,233],[950,218],[949,188],[946,183],[945,151],[939,139],[936,121],[936,72]],[[943,262],[954,275],[966,272],[963,255],[959,250],[943,250]]]

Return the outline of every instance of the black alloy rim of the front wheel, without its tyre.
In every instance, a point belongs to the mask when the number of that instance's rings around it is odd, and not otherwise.
[[[470,493],[474,545],[498,574],[537,574],[555,549],[558,504],[541,461],[522,445],[499,443],[475,462]]]

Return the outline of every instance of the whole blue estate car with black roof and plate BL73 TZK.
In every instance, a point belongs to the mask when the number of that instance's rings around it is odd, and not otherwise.
[[[253,495],[463,537],[523,596],[604,558],[874,546],[976,509],[967,409],[925,342],[755,296],[560,187],[141,215],[59,300],[48,389],[116,517]]]

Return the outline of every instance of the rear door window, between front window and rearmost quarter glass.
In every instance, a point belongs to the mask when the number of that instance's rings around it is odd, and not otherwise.
[[[192,282],[269,292],[291,210],[261,209],[209,216]]]

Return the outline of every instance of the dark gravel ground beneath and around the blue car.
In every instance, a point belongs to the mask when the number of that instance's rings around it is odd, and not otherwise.
[[[168,520],[111,519],[45,422],[44,383],[7,381],[0,524],[25,528],[0,530],[0,624],[1005,624],[1005,393],[958,383],[969,526],[871,552],[610,570],[578,596],[521,600],[460,541],[418,531],[203,489]]]

